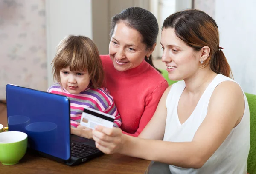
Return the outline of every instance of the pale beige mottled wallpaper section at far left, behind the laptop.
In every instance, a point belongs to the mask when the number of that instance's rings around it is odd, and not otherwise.
[[[7,83],[47,89],[44,0],[0,0],[0,99]]]

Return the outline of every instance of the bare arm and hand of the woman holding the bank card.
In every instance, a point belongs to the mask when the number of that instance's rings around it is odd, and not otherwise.
[[[244,94],[240,86],[226,81],[215,88],[207,116],[192,142],[174,143],[136,138],[120,133],[119,129],[101,126],[93,131],[93,139],[96,147],[106,154],[118,152],[179,167],[201,168],[239,123],[243,113]],[[154,124],[153,121],[151,124]]]

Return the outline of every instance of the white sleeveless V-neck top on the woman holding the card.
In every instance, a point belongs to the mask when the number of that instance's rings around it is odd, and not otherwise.
[[[177,106],[180,96],[185,89],[185,82],[179,81],[172,85],[166,99],[167,118],[164,141],[189,142],[203,122],[208,103],[215,87],[224,81],[234,81],[222,74],[218,74],[209,84],[195,110],[189,118],[180,124]],[[247,174],[247,157],[250,148],[250,113],[247,98],[244,94],[244,115],[240,123],[232,129],[226,140],[199,169],[181,168],[169,165],[172,174]],[[209,136],[211,136],[209,134]]]

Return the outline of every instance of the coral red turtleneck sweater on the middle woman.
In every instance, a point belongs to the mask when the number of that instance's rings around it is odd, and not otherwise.
[[[168,87],[163,76],[145,60],[125,72],[117,71],[109,55],[101,55],[105,87],[113,96],[121,116],[121,129],[137,137],[153,116],[157,104]]]

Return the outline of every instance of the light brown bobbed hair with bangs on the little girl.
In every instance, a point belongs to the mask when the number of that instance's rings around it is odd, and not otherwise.
[[[58,83],[61,83],[61,69],[69,67],[70,71],[88,71],[91,88],[102,86],[104,80],[102,61],[98,48],[88,37],[69,35],[61,40],[51,65],[53,65],[53,78]]]

